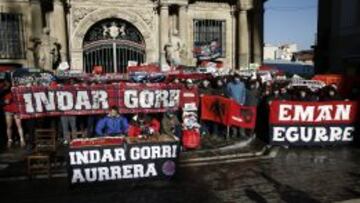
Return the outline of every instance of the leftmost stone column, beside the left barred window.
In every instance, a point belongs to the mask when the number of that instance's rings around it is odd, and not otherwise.
[[[40,38],[42,34],[42,12],[40,0],[30,1],[31,9],[31,37]]]

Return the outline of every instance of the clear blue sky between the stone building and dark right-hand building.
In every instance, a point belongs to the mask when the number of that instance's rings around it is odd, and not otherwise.
[[[265,43],[296,43],[310,49],[317,32],[317,0],[268,0],[265,3]]]

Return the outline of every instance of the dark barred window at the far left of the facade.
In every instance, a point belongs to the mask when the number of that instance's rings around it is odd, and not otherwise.
[[[0,59],[24,59],[22,14],[0,13]]]

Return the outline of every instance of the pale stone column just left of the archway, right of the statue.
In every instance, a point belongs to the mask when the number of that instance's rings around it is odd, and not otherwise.
[[[54,0],[54,11],[52,13],[53,26],[51,28],[52,36],[55,37],[61,44],[61,60],[68,61],[68,41],[66,34],[66,20],[64,3],[62,0]]]

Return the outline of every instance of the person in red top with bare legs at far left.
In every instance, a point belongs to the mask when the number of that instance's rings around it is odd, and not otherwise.
[[[20,146],[21,147],[25,147],[26,143],[25,143],[25,139],[24,139],[24,131],[23,128],[21,126],[21,119],[20,117],[17,115],[18,113],[18,108],[15,104],[14,98],[13,98],[13,94],[11,93],[11,91],[9,90],[9,92],[7,92],[4,95],[4,112],[5,112],[5,120],[6,120],[6,135],[8,138],[8,147],[11,147],[13,140],[12,140],[12,125],[13,125],[13,121],[15,120],[15,124],[20,136]]]

